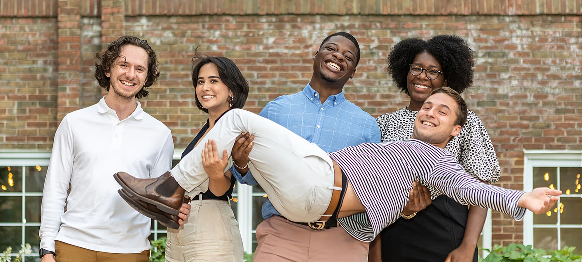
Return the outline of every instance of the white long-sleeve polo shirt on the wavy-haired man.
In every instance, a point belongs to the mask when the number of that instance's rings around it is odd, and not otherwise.
[[[150,218],[119,196],[113,174],[164,174],[172,166],[173,140],[171,131],[136,103],[121,121],[105,97],[63,118],[45,178],[41,248],[54,251],[59,240],[108,253],[150,249]]]

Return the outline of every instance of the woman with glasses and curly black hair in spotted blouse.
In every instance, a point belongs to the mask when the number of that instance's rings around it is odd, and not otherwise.
[[[408,107],[378,116],[382,142],[409,139],[414,118],[432,90],[448,86],[462,93],[473,84],[473,51],[457,36],[430,40],[409,38],[392,47],[388,72],[396,87],[410,97]],[[465,171],[485,183],[499,179],[501,169],[487,130],[474,112],[460,134],[445,147]],[[430,203],[430,201],[427,201]],[[421,210],[425,206],[416,207]],[[456,203],[446,196],[432,200],[424,210],[404,210],[371,245],[370,261],[477,261],[477,240],[487,210]]]

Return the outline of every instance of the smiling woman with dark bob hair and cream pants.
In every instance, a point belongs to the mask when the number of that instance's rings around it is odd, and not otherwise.
[[[197,54],[192,60],[194,99],[196,106],[208,113],[208,120],[182,157],[203,141],[225,112],[242,108],[249,94],[249,82],[230,59]],[[228,158],[226,150],[223,154],[223,158]],[[243,259],[243,240],[230,208],[236,180],[230,171],[223,172],[218,155],[205,150],[202,160],[204,170],[210,176],[208,190],[189,196],[192,209],[184,226],[179,230],[168,228],[166,261],[240,262]]]

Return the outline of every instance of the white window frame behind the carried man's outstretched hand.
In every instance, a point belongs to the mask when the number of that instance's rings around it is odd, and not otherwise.
[[[523,190],[528,192],[533,190],[533,168],[534,167],[582,167],[582,150],[523,150]],[[572,196],[573,195],[573,196]],[[580,194],[570,194],[571,197],[582,196]],[[569,197],[570,197],[569,196]],[[560,220],[556,225],[534,226],[533,213],[526,212],[523,218],[523,244],[534,244],[534,228],[555,228],[558,231],[558,248],[560,247],[560,228],[582,228],[580,226],[560,225]]]

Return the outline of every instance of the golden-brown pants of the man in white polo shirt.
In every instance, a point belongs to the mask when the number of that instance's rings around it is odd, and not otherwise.
[[[98,252],[65,242],[55,241],[56,262],[149,262],[150,250],[141,253],[118,254]]]

